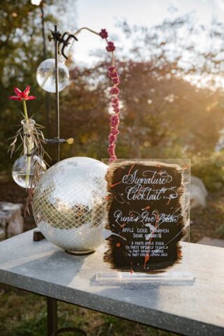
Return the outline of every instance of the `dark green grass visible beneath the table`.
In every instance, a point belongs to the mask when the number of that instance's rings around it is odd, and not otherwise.
[[[88,336],[172,336],[156,328],[117,319],[59,302],[59,327],[78,327]],[[45,336],[47,330],[46,299],[13,288],[0,287],[0,335]],[[75,335],[67,333],[66,335]],[[77,334],[76,334],[77,335]]]

